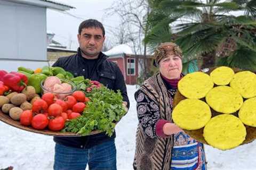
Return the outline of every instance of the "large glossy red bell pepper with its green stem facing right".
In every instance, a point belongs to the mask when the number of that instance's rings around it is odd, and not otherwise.
[[[23,76],[22,76],[22,78],[23,78]],[[25,81],[23,81],[21,79],[21,77],[19,77],[19,75],[7,73],[3,77],[3,82],[4,82],[5,86],[9,87],[10,89],[17,91],[17,92],[21,92],[27,86],[26,82],[28,82],[27,77],[26,77],[26,79],[25,78],[23,78],[23,79]]]

